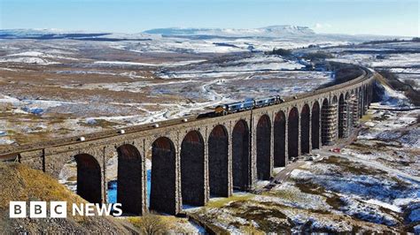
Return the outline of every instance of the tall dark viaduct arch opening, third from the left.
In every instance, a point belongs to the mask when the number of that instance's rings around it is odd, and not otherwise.
[[[172,140],[159,137],[152,143],[150,208],[170,215],[178,212],[175,157]]]

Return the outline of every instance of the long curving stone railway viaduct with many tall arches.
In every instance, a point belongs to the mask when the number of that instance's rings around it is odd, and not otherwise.
[[[210,195],[229,197],[267,180],[274,167],[346,138],[369,109],[375,74],[284,102],[222,117],[190,116],[122,130],[91,133],[0,150],[52,177],[72,159],[77,193],[107,203],[106,163],[118,155],[117,201],[125,213],[156,210],[171,215],[183,204],[203,206]],[[152,159],[150,204],[145,159]],[[148,205],[149,204],[149,205]]]

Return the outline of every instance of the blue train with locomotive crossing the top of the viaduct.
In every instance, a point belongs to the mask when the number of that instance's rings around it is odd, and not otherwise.
[[[261,108],[273,104],[284,102],[284,99],[280,95],[269,96],[265,98],[252,99],[248,98],[240,102],[230,102],[218,105],[214,108],[215,116],[224,116],[230,113],[253,110],[255,108]]]

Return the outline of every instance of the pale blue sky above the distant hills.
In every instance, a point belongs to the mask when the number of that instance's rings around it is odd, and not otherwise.
[[[156,27],[311,27],[419,36],[419,0],[0,0],[0,27],[137,33]]]

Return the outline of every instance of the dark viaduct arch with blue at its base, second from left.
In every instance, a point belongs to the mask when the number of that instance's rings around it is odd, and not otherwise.
[[[143,158],[138,149],[130,144],[117,148],[117,202],[124,213],[143,213],[144,169]]]

